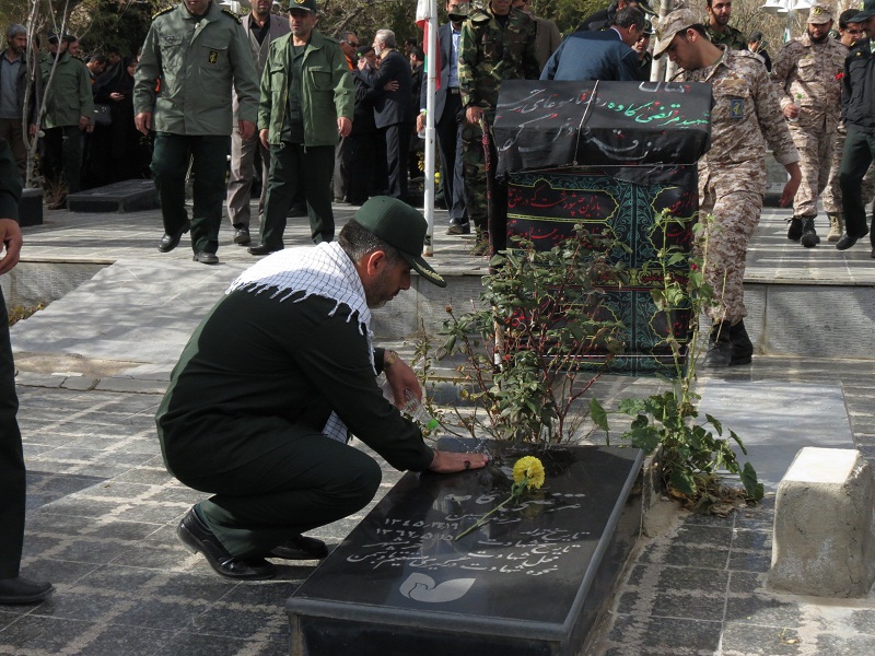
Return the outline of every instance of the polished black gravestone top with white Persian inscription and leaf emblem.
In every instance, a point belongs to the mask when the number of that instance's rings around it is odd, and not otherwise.
[[[508,497],[515,457],[477,472],[406,475],[293,599],[555,620],[571,607],[640,452],[572,447],[540,457],[545,487],[460,540]],[[527,594],[539,602],[520,604]]]

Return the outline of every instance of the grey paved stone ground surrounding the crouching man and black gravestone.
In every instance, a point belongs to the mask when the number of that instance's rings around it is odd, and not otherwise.
[[[342,223],[349,210],[337,210]],[[868,248],[802,249],[782,238],[785,216],[763,216],[751,281],[875,283]],[[439,226],[444,221],[439,212]],[[485,260],[466,257],[469,239],[435,232],[439,271],[482,271]],[[57,591],[38,606],[0,607],[0,654],[288,653],[283,604],[316,563],[285,565],[280,578],[264,583],[214,575],[174,538],[179,517],[202,495],[166,473],[154,435],[160,395],[191,328],[254,258],[230,245],[228,227],[215,268],[191,262],[187,239],[159,254],[160,233],[154,212],[48,212],[46,225],[25,230],[24,266],[117,262],[113,268],[124,274],[107,273],[100,292],[83,285],[13,330],[30,469],[24,573],[52,581]],[[290,234],[292,243],[306,241],[294,222]],[[48,320],[52,315],[61,318]],[[752,366],[702,379],[839,386],[855,444],[872,461],[873,370],[872,360],[757,358]],[[610,377],[595,394],[609,403],[651,387]],[[720,419],[732,426],[732,418]],[[399,475],[384,471],[388,489]],[[313,535],[338,543],[363,514]],[[875,653],[872,596],[837,601],[765,589],[771,499],[727,519],[673,516],[664,534],[642,539],[593,653]]]

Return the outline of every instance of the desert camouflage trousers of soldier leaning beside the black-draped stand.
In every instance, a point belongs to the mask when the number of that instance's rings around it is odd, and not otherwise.
[[[704,259],[705,282],[714,289],[714,303],[705,315],[714,323],[737,324],[745,307],[747,244],[762,210],[765,165],[744,164],[727,173],[699,171],[699,214],[712,214],[705,238],[697,250]]]

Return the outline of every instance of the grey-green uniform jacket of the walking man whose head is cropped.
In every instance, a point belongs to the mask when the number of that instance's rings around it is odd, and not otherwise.
[[[255,122],[258,73],[249,42],[236,16],[215,3],[200,19],[185,3],[158,14],[133,79],[133,113],[152,113],[159,132],[230,136],[232,85],[238,118]]]

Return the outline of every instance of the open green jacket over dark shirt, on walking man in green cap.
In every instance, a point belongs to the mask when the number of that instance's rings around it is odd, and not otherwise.
[[[279,145],[289,109],[289,48],[292,35],[270,44],[261,75],[261,103],[258,129],[268,130],[268,143]],[[301,113],[304,119],[304,147],[337,145],[338,117],[352,120],[355,90],[349,63],[340,44],[314,31],[302,63]]]

